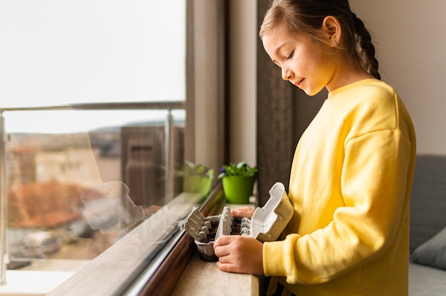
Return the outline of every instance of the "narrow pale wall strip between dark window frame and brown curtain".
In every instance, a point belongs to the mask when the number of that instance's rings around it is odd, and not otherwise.
[[[257,1],[232,0],[230,161],[256,164]]]

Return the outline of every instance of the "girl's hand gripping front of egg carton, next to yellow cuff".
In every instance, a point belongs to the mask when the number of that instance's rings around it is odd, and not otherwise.
[[[229,273],[264,275],[263,243],[250,236],[220,236],[215,240],[217,268]]]

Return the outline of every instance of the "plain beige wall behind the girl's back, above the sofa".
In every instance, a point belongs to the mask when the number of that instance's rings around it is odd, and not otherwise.
[[[383,80],[413,118],[418,153],[446,154],[446,1],[350,2],[374,38]]]

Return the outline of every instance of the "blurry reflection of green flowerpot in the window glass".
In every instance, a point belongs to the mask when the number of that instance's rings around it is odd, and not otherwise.
[[[183,191],[202,194],[209,193],[214,179],[214,170],[202,164],[185,162]]]

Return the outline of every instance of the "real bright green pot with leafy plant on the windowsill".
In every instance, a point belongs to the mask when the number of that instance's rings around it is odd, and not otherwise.
[[[246,162],[222,166],[218,178],[222,179],[224,196],[229,203],[249,203],[258,171]]]

